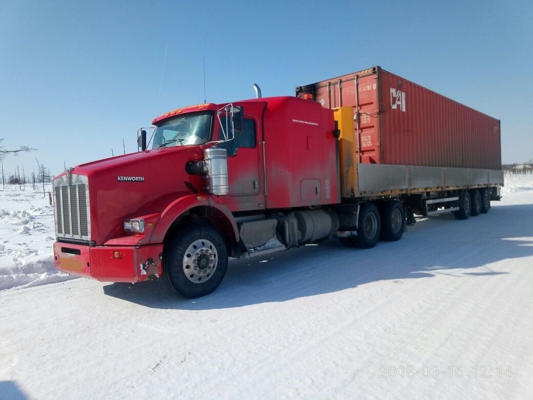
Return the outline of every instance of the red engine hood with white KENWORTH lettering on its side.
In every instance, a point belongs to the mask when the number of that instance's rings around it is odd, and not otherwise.
[[[88,179],[91,239],[102,245],[124,236],[124,219],[162,212],[171,199],[190,194],[185,181],[201,190],[201,178],[185,172],[187,162],[201,158],[200,146],[174,146],[74,167],[72,174]]]

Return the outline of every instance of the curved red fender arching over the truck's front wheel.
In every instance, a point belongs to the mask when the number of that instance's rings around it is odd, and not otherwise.
[[[211,207],[212,209],[215,209],[219,213],[221,213],[224,217],[225,224],[230,227],[229,234],[232,234],[232,238],[235,239],[236,242],[239,242],[239,230],[237,228],[237,223],[235,222],[235,219],[233,219],[233,215],[231,214],[228,207],[222,204],[215,203],[213,201],[212,196],[197,194],[191,194],[180,197],[179,199],[169,204],[166,207],[165,211],[161,213],[161,218],[156,223],[154,230],[152,230],[149,242],[162,243],[172,223],[185,211],[188,211],[195,207]]]

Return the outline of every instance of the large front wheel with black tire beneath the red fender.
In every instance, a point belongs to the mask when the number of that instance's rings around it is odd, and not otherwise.
[[[213,292],[227,268],[226,243],[211,225],[185,228],[163,247],[163,281],[189,299]]]

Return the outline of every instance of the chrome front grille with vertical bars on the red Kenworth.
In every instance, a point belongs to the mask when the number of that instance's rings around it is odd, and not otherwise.
[[[55,233],[58,237],[90,240],[89,194],[87,177],[72,175],[54,181]]]

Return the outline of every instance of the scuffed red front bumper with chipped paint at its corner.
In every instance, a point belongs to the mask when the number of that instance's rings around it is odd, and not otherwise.
[[[68,274],[102,282],[135,283],[161,276],[162,252],[163,244],[90,247],[55,242],[54,263]]]

